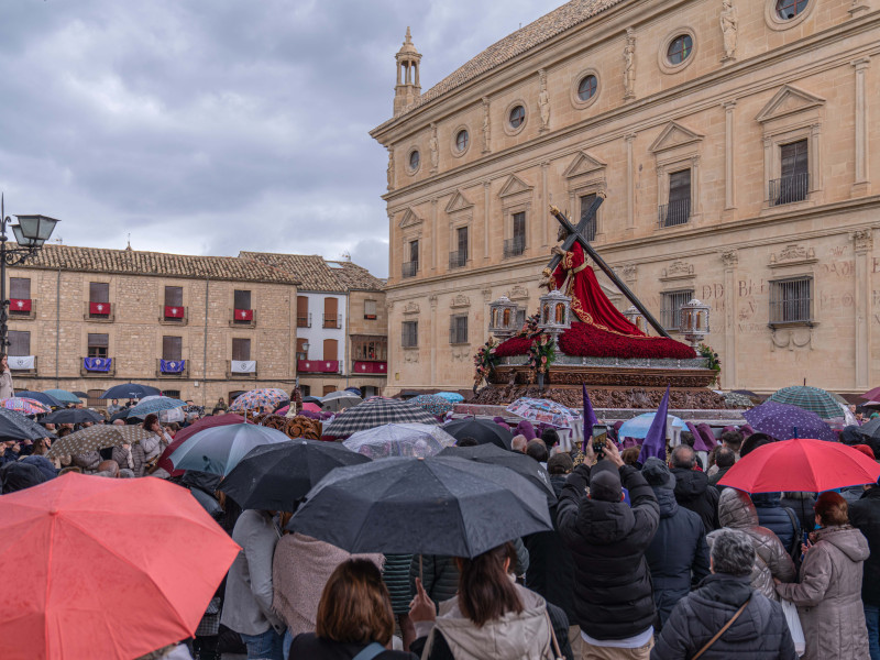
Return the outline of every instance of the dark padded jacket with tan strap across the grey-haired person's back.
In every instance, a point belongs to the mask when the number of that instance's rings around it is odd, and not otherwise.
[[[798,660],[782,606],[752,591],[748,576],[722,573],[710,575],[679,602],[651,649],[651,660],[693,658],[749,596],[743,614],[701,660]]]

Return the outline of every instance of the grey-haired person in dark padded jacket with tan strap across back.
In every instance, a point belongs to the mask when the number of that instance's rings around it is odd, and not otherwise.
[[[651,660],[796,660],[782,606],[749,584],[755,548],[744,532],[719,529],[712,575],[682,598],[651,651]],[[831,659],[831,657],[828,657]]]

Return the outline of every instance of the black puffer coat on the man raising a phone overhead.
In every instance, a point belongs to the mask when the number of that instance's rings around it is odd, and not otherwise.
[[[624,502],[590,499],[590,468],[569,475],[557,505],[557,525],[574,558],[574,622],[594,639],[624,639],[653,624],[651,575],[645,551],[657,531],[660,508],[641,473],[619,470],[629,491]]]

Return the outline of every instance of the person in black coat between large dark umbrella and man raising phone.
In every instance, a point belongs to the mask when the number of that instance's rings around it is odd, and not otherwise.
[[[557,497],[565,485],[565,475],[553,474],[550,484]],[[557,507],[550,507],[553,531],[532,534],[522,539],[529,551],[529,569],[526,586],[541,594],[548,603],[561,607],[570,620],[574,620],[574,558],[559,535]]]

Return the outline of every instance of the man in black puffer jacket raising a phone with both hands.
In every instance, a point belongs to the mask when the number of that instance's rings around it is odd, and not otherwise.
[[[656,615],[645,550],[660,518],[653,491],[617,448],[605,444],[595,460],[569,475],[557,505],[562,541],[574,558],[574,613],[584,658],[647,660]],[[588,492],[587,492],[588,487]],[[623,502],[629,491],[631,507]]]

